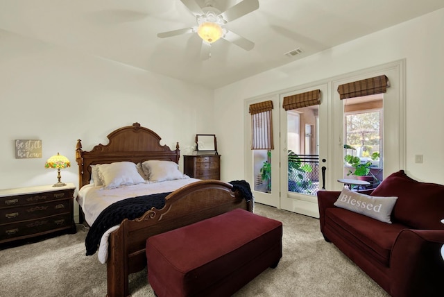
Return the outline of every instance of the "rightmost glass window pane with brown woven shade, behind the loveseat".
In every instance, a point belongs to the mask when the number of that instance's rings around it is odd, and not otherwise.
[[[390,87],[380,75],[338,86],[345,99],[345,176],[378,185],[382,180],[382,98]]]

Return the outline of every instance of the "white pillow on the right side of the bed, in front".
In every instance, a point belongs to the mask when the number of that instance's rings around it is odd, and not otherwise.
[[[148,160],[142,163],[148,180],[162,182],[164,180],[179,180],[186,176],[179,171],[179,165],[173,161]]]

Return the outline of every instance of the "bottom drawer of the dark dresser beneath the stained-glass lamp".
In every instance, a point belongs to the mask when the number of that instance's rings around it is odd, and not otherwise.
[[[6,242],[8,239],[28,237],[28,235],[35,235],[36,233],[45,234],[67,228],[71,228],[70,214],[59,214],[31,221],[19,221],[0,225],[0,241]]]

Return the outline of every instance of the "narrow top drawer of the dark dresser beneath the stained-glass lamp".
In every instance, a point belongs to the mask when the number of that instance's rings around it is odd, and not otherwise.
[[[74,189],[65,189],[62,191],[43,192],[36,194],[24,194],[8,197],[0,197],[0,208],[18,205],[28,205],[32,203],[42,203],[62,198],[73,198]]]

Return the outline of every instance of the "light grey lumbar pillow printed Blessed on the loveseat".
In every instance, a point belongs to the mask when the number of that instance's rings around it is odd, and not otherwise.
[[[369,196],[344,187],[334,205],[384,223],[391,223],[391,211],[397,199],[398,197]]]

